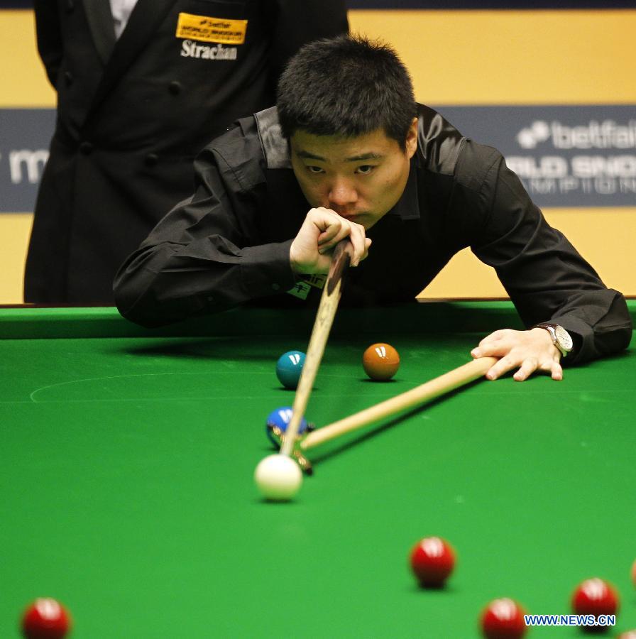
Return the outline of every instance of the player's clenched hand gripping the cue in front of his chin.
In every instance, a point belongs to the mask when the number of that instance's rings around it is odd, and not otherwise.
[[[328,273],[331,253],[336,244],[349,237],[353,246],[351,266],[368,255],[371,239],[366,237],[364,226],[340,217],[331,209],[311,209],[290,248],[292,271],[301,275]]]

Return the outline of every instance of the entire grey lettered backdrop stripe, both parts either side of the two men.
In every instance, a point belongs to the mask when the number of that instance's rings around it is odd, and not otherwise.
[[[541,207],[636,206],[636,105],[431,105],[498,148]],[[0,213],[32,212],[55,109],[0,109]]]

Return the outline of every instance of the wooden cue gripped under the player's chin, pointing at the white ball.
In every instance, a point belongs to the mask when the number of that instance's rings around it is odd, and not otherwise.
[[[302,365],[302,373],[300,373],[298,388],[294,396],[292,418],[285,429],[283,445],[280,447],[280,453],[288,457],[293,452],[298,430],[300,429],[300,421],[305,415],[309,395],[312,392],[318,367],[324,354],[324,347],[327,345],[331,324],[334,323],[336,309],[342,293],[342,276],[349,268],[352,257],[353,246],[351,246],[351,241],[349,239],[339,241],[331,257],[329,274],[322,289],[322,297],[320,297],[316,320],[314,320],[312,336],[309,338],[309,346],[307,346],[305,364]]]

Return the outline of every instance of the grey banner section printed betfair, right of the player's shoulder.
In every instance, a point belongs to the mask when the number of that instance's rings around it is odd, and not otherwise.
[[[503,153],[541,207],[636,206],[636,105],[434,106]]]

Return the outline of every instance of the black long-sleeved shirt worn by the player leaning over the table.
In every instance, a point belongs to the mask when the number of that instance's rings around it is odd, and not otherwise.
[[[195,163],[197,190],[155,227],[120,269],[116,303],[146,325],[216,312],[272,295],[297,277],[292,239],[309,205],[292,172],[276,109],[238,121]],[[402,197],[368,236],[344,305],[413,300],[466,246],[493,266],[527,327],[557,322],[574,334],[567,363],[624,349],[631,321],[623,295],[605,287],[569,241],[547,224],[494,148],[420,105],[418,148]],[[502,327],[504,328],[504,327]]]

